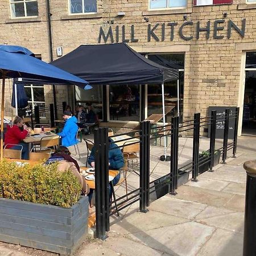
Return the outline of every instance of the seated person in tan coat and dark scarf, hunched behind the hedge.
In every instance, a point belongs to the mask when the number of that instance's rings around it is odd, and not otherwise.
[[[77,180],[81,184],[83,194],[87,194],[89,192],[89,186],[84,177],[80,174],[79,164],[71,157],[71,152],[67,147],[59,146],[55,153],[47,160],[46,164],[55,162],[58,162],[57,171],[64,172],[69,170],[76,176]]]

